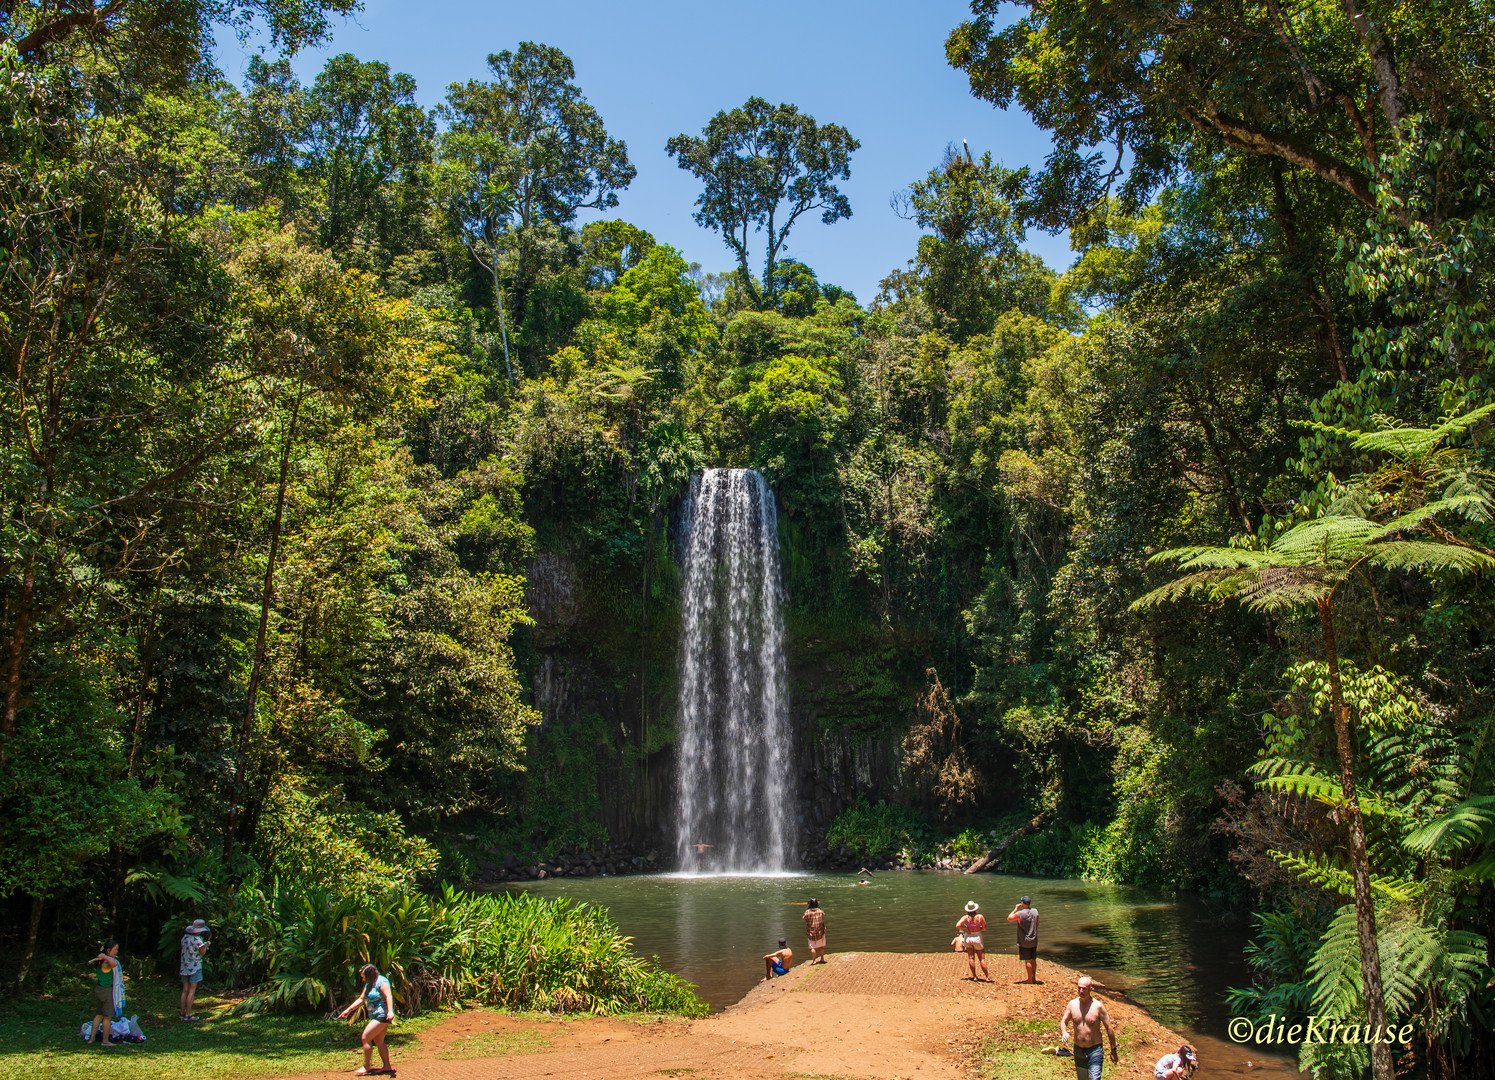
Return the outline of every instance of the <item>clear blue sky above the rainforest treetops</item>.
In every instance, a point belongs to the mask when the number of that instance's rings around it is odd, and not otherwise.
[[[718,111],[753,94],[798,105],[851,130],[861,150],[842,184],[852,217],[831,226],[800,218],[788,254],[867,304],[918,242],[918,229],[893,212],[888,197],[937,165],[948,142],[967,139],[972,153],[990,150],[1008,166],[1036,166],[1049,150],[1021,109],[978,102],[964,75],[945,63],[945,36],[967,16],[960,0],[368,0],[356,19],[335,25],[326,48],[293,64],[309,82],[338,52],[383,60],[416,76],[420,102],[432,106],[447,84],[487,78],[490,52],[522,40],[555,45],[576,63],[577,85],[638,169],[608,215],[647,229],[707,271],[730,269],[731,254],[691,220],[698,185],[665,154],[665,141],[698,133]],[[233,82],[242,82],[247,55],[232,36],[221,42],[218,61]],[[1029,247],[1055,269],[1072,259],[1066,236],[1032,233]]]

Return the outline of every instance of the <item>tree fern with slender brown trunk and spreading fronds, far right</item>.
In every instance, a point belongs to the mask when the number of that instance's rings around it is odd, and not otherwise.
[[[1371,874],[1372,847],[1383,868],[1387,862],[1399,865],[1402,853],[1410,848],[1386,841],[1377,844],[1375,838],[1366,835],[1365,814],[1374,815],[1384,808],[1384,803],[1374,794],[1366,797],[1369,794],[1365,791],[1366,785],[1356,779],[1354,736],[1360,736],[1362,752],[1386,754],[1371,769],[1371,775],[1377,779],[1395,772],[1396,758],[1402,764],[1420,764],[1423,755],[1410,743],[1383,739],[1392,731],[1417,730],[1417,709],[1401,708],[1401,700],[1410,699],[1392,696],[1389,706],[1381,703],[1383,708],[1375,709],[1363,705],[1356,708],[1356,703],[1348,700],[1347,690],[1353,693],[1354,687],[1347,685],[1353,681],[1344,678],[1348,666],[1343,666],[1338,655],[1335,600],[1346,582],[1371,570],[1470,573],[1495,568],[1495,558],[1438,525],[1440,518],[1489,518],[1489,498],[1483,479],[1468,468],[1461,450],[1449,450],[1447,441],[1492,413],[1495,405],[1450,417],[1435,428],[1399,428],[1381,422],[1380,429],[1374,432],[1340,432],[1348,435],[1359,450],[1384,455],[1386,464],[1377,473],[1357,477],[1356,483],[1348,486],[1335,485],[1331,477],[1335,497],[1328,510],[1320,510],[1269,541],[1247,537],[1227,547],[1175,547],[1154,555],[1151,559],[1154,565],[1171,565],[1178,576],[1132,604],[1132,610],[1142,612],[1192,597],[1215,603],[1233,598],[1256,612],[1275,613],[1311,607],[1317,615],[1328,709],[1320,706],[1316,712],[1326,712],[1334,724],[1332,745],[1338,758],[1335,772],[1340,775],[1338,802],[1331,802],[1334,796],[1331,787],[1323,782],[1325,773],[1307,763],[1301,766],[1271,763],[1263,785],[1332,805],[1337,820],[1347,826],[1353,874],[1322,856],[1272,854],[1323,887],[1344,892],[1344,886],[1350,886],[1354,905],[1341,911],[1325,935],[1320,953],[1314,959],[1314,981],[1322,1004],[1334,1005],[1334,1011],[1340,1016],[1348,1016],[1347,1007],[1363,999],[1365,1016],[1375,1028],[1386,1023],[1389,1008],[1396,1011],[1407,1007],[1420,984],[1419,980],[1434,965],[1438,954],[1435,939],[1440,935],[1431,929],[1408,929],[1417,924],[1408,923],[1398,914],[1404,950],[1383,965],[1383,950],[1377,944],[1375,898],[1407,905],[1417,899],[1420,890],[1411,887],[1405,878]],[[1441,495],[1434,494],[1435,486],[1443,486]],[[1377,722],[1383,712],[1390,718],[1389,722]],[[1299,727],[1307,730],[1308,725]],[[1304,739],[1295,739],[1292,734],[1284,734],[1278,743],[1281,748],[1292,743],[1307,745]],[[1408,808],[1408,814],[1425,809],[1426,803]],[[1381,817],[1395,818],[1389,812]],[[1414,818],[1402,817],[1398,832],[1413,824]],[[1429,844],[1441,842],[1444,836],[1483,836],[1483,809],[1465,805],[1459,817],[1450,818],[1441,830],[1413,835]],[[1483,862],[1479,865],[1483,866]],[[1362,889],[1359,886],[1362,881],[1369,883],[1369,887]],[[1383,977],[1387,972],[1389,978]],[[1377,1080],[1390,1080],[1395,1070],[1386,1044],[1372,1046],[1369,1053]]]

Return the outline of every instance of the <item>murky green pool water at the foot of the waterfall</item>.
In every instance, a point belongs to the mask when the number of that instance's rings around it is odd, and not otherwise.
[[[759,957],[779,938],[789,941],[797,963],[807,956],[800,915],[810,896],[825,908],[831,953],[946,951],[967,900],[987,915],[987,948],[1015,953],[1006,915],[1029,895],[1041,915],[1039,954],[1123,990],[1187,1035],[1202,1052],[1200,1080],[1296,1076],[1290,1056],[1259,1053],[1226,1037],[1224,992],[1250,981],[1242,956],[1250,926],[1239,909],[1192,895],[1000,874],[900,871],[873,874],[869,886],[854,883],[846,874],[649,875],[510,887],[604,905],[640,953],[697,984],[713,1008],[731,1005],[758,983]],[[952,953],[952,977],[963,968]]]

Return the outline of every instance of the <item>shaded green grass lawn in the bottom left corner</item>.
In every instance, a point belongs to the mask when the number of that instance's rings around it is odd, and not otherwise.
[[[345,1070],[362,1061],[363,1020],[341,1023],[320,1016],[233,1016],[232,1002],[197,992],[196,1011],[208,1019],[176,1019],[179,983],[135,980],[126,987],[126,1016],[139,1013],[145,1043],[111,1050],[85,1046],[79,1025],[93,1019],[93,993],[21,998],[0,1005],[0,1077],[4,1080],[197,1080]],[[446,1013],[399,1020],[386,1040],[399,1062],[416,1034]],[[375,1055],[374,1064],[378,1064]]]

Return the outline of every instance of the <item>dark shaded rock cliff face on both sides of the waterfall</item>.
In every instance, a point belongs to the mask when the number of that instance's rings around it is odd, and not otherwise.
[[[677,567],[679,512],[671,512],[665,524],[659,540]],[[535,752],[544,745],[547,731],[585,728],[599,733],[591,746],[594,758],[586,763],[586,772],[595,766],[597,776],[591,812],[611,842],[655,851],[664,862],[673,859],[677,805],[674,672],[679,627],[674,582],[658,580],[667,576],[658,574],[653,582],[647,639],[637,627],[631,627],[632,633],[619,633],[616,616],[599,610],[576,562],[562,552],[537,555],[526,580],[526,603],[534,619],[528,631],[528,681],[532,705],[541,715],[540,728],[531,736],[529,767],[558,767],[541,760],[543,752]],[[631,586],[640,588],[637,582]],[[876,800],[898,794],[898,733],[858,736],[828,720],[827,705],[834,705],[840,688],[837,669],[824,649],[807,646],[801,637],[791,628],[785,642],[792,742],[791,863],[813,866],[825,863],[825,830],[848,803],[858,796]]]

